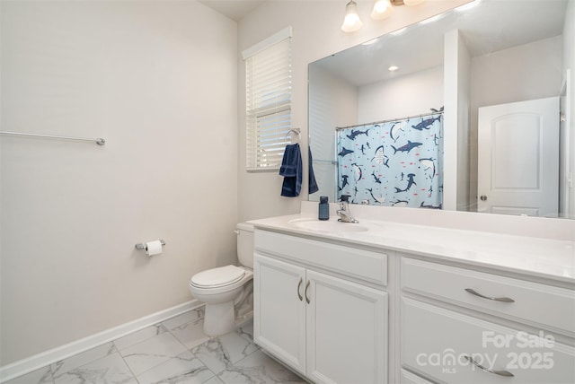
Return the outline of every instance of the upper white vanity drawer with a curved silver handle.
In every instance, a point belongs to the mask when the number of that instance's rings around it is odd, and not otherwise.
[[[575,291],[408,257],[401,268],[404,291],[575,332]]]

